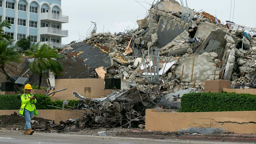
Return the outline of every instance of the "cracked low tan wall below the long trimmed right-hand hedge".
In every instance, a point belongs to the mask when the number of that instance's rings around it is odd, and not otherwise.
[[[256,111],[171,112],[146,109],[146,130],[178,131],[188,127],[221,127],[234,133],[256,133]]]

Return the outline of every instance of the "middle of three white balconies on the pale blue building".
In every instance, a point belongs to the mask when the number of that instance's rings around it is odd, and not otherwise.
[[[68,30],[51,28],[51,27],[41,27],[41,35],[45,36],[58,36],[58,37],[68,37]]]

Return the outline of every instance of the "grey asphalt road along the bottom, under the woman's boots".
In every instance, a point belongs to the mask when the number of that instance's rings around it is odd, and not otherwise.
[[[182,141],[167,139],[87,136],[73,134],[45,134],[0,132],[0,144],[245,144],[231,142]]]

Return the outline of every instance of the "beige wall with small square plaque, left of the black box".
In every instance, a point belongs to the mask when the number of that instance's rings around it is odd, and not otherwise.
[[[86,88],[90,88],[90,91]],[[71,100],[77,99],[73,96],[73,91],[85,98],[100,98],[101,91],[104,90],[104,79],[55,79],[55,90],[65,89],[55,93],[51,100]]]

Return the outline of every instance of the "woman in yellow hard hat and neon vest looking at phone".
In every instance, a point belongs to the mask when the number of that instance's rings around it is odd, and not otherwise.
[[[25,129],[23,134],[32,135],[34,133],[34,130],[31,129],[30,121],[33,117],[33,114],[37,116],[37,110],[35,107],[36,98],[33,94],[30,93],[32,89],[30,84],[26,84],[24,89],[25,89],[25,93],[20,96],[21,107],[20,107],[19,114],[24,115],[26,119]]]

